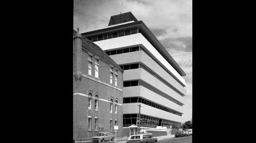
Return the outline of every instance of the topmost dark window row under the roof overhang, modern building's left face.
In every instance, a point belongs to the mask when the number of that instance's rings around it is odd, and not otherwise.
[[[138,33],[138,29],[136,28],[136,29],[126,29],[121,31],[109,32],[108,34],[95,35],[87,38],[95,42],[95,41],[107,40],[111,38],[117,38],[117,37],[127,36],[131,34],[137,34],[137,33]]]

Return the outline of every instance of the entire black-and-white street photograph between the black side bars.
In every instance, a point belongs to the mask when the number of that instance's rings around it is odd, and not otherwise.
[[[192,0],[74,1],[74,142],[192,142]]]

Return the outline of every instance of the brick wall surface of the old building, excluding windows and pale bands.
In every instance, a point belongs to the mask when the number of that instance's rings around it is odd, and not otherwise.
[[[95,57],[93,57],[94,60]],[[88,55],[87,51],[83,50],[82,52],[82,73],[84,75],[88,75]],[[102,82],[109,83],[109,69],[110,64],[99,60],[99,79],[96,79],[94,77],[94,63],[92,68],[92,76],[96,80],[100,80]],[[89,76],[89,75],[88,75]],[[114,79],[114,76],[113,76]],[[114,81],[113,81],[114,84]],[[112,86],[114,86],[112,84]],[[118,88],[123,88],[123,74],[122,72],[118,72]],[[123,93],[115,88],[103,85],[102,83],[96,82],[94,80],[88,79],[87,77],[82,77],[81,79],[75,79],[73,81],[73,89],[74,93],[82,93],[87,94],[88,90],[93,91],[94,93],[99,94],[100,99],[104,99],[109,101],[109,98],[112,96],[113,98],[118,99],[118,103],[123,104]],[[118,112],[117,114],[114,113],[114,104],[113,104],[113,112],[110,113],[109,111],[109,102],[99,100],[98,102],[98,111],[95,111],[94,109],[94,101],[95,99],[92,99],[92,109],[88,109],[88,97],[82,96],[82,95],[73,95],[73,137],[78,137],[78,127],[81,128],[79,131],[79,137],[80,138],[88,138],[95,135],[96,132],[93,131],[87,131],[88,130],[88,116],[92,116],[92,130],[94,130],[94,119],[95,116],[98,117],[99,124],[102,124],[104,127],[104,130],[110,129],[110,119],[113,120],[113,128],[114,128],[114,121],[117,119],[119,131],[117,133],[117,137],[122,136],[122,128],[123,128],[123,108],[122,106],[118,105]],[[114,134],[114,133],[113,133]]]

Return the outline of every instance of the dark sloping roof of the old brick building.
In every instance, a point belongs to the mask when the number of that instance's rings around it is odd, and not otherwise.
[[[75,36],[76,34],[76,30],[73,29],[73,35]],[[111,59],[111,57],[109,57],[105,51],[103,51],[99,46],[97,46],[95,43],[93,43],[92,41],[90,41],[87,37],[82,36],[82,48],[87,49],[88,51],[92,52],[93,54],[101,57],[101,59],[107,61],[108,63],[113,64],[113,66],[117,67],[118,69],[120,69],[121,71],[123,71],[123,69],[114,61]]]

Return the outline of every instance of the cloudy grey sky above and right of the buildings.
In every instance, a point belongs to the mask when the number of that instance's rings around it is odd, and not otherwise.
[[[192,0],[74,0],[74,29],[97,30],[106,27],[111,16],[129,11],[147,25],[187,74],[182,122],[191,120]]]

